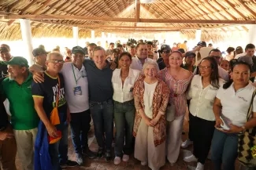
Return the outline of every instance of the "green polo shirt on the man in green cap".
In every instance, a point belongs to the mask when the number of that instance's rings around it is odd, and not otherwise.
[[[39,117],[36,114],[32,98],[32,74],[19,85],[17,81],[6,78],[1,84],[4,98],[9,100],[9,111],[12,114],[11,123],[15,130],[30,130],[37,128]]]

